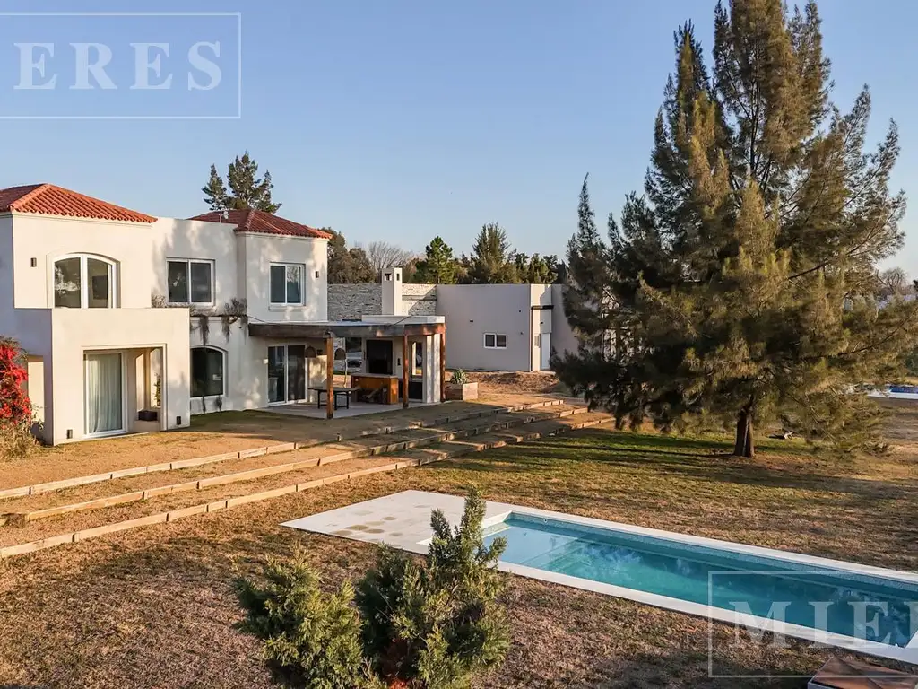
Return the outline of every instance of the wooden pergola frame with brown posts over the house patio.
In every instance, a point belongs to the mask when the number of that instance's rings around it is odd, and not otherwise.
[[[335,415],[335,349],[336,339],[359,337],[363,340],[376,338],[401,338],[402,344],[402,406],[408,409],[409,346],[408,338],[425,335],[440,335],[440,401],[446,400],[446,323],[395,322],[375,323],[360,321],[315,322],[315,323],[250,323],[249,334],[275,340],[325,340],[328,358],[326,370],[326,418]]]

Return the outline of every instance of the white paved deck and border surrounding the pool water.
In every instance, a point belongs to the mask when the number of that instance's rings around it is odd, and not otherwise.
[[[284,526],[327,536],[386,544],[393,548],[424,554],[427,552],[428,543],[431,538],[431,510],[442,510],[443,514],[446,515],[446,518],[452,524],[458,524],[462,517],[464,503],[465,499],[463,497],[455,495],[444,495],[442,493],[424,491],[403,491],[386,495],[382,498],[376,498],[375,500],[369,500],[365,503],[356,503],[347,507],[341,507],[337,510],[312,514],[302,519],[286,522]],[[918,584],[918,573],[915,572],[887,570],[854,562],[816,558],[810,555],[801,555],[799,553],[791,553],[784,550],[757,548],[756,546],[747,546],[741,543],[688,536],[686,534],[677,534],[671,531],[661,531],[658,529],[644,528],[643,526],[620,524],[618,522],[591,519],[574,514],[550,512],[548,510],[540,510],[533,507],[523,507],[507,503],[487,502],[487,510],[483,525],[485,527],[497,525],[507,519],[511,513],[554,519],[571,525],[594,526],[635,536],[665,538],[666,540],[676,541],[677,543],[686,545],[718,548],[733,553],[778,559],[796,565],[798,570],[799,566],[802,564],[818,568],[840,570],[841,572],[850,572],[853,574],[881,577],[894,582]],[[592,580],[572,577],[566,574],[558,574],[553,571],[538,570],[532,567],[504,562],[503,560],[498,562],[498,569],[531,579],[542,580],[543,582],[554,582],[578,589],[626,598],[638,603],[655,605],[656,607],[675,610],[689,615],[707,617],[711,621],[717,620],[735,626],[774,632],[777,635],[802,638],[815,643],[868,653],[869,655],[878,656],[880,658],[918,664],[918,634],[914,634],[909,644],[902,648],[876,641],[868,641],[863,638],[834,634],[812,627],[801,627],[771,618],[746,615],[720,607],[670,598],[656,593],[646,593],[613,584],[594,582]],[[912,607],[916,611],[913,615],[918,615],[918,603],[912,604]],[[915,623],[912,622],[912,627],[914,627],[914,624]]]

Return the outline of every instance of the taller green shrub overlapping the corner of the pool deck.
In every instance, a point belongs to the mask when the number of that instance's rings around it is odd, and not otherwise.
[[[495,569],[506,543],[498,538],[484,547],[484,514],[477,491],[466,499],[454,530],[434,511],[426,564],[384,548],[357,585],[364,649],[386,680],[458,689],[506,655],[509,626],[498,604],[503,582]]]

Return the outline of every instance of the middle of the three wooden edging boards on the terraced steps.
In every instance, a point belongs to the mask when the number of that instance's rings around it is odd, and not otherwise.
[[[548,418],[539,419],[538,421],[554,421],[557,419],[565,418],[566,416],[585,413],[586,411],[586,407],[577,407],[574,409],[565,410],[563,412],[551,412],[551,415]],[[518,425],[531,424],[535,421],[537,421],[535,417],[526,416],[521,417],[520,419],[514,419],[513,421],[501,421],[481,426],[475,426],[474,428],[467,428],[465,430],[442,431],[434,435],[429,435],[423,438],[416,438],[414,440],[403,440],[397,443],[388,443],[386,445],[361,447],[359,449],[339,452],[327,457],[303,459],[297,462],[287,462],[285,464],[274,465],[273,467],[248,469],[246,471],[238,471],[232,474],[212,476],[207,479],[190,480],[183,483],[173,483],[165,486],[157,486],[154,488],[148,488],[144,491],[131,491],[121,493],[119,495],[109,495],[103,498],[95,498],[95,500],[85,501],[84,503],[57,505],[55,507],[46,507],[44,509],[34,510],[32,512],[26,513],[0,514],[0,526],[6,524],[22,524],[24,522],[34,522],[39,519],[47,519],[49,517],[61,516],[63,514],[72,514],[74,512],[85,512],[88,510],[103,509],[118,504],[137,503],[161,495],[171,495],[177,492],[200,491],[205,488],[210,488],[211,486],[238,483],[245,480],[263,479],[268,476],[274,476],[276,474],[299,471],[302,469],[312,469],[314,467],[347,461],[349,459],[360,459],[363,457],[373,457],[375,455],[385,455],[392,452],[409,450],[413,447],[435,445],[437,443],[448,442],[450,440],[472,437],[474,435],[483,435],[492,431],[505,430]]]

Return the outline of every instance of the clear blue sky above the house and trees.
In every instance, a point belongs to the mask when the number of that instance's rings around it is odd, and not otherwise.
[[[385,239],[415,250],[440,234],[467,252],[482,223],[498,220],[528,253],[562,254],[577,222],[577,193],[590,174],[600,217],[618,212],[642,183],[655,112],[673,65],[672,32],[686,19],[710,50],[712,0],[270,0],[18,2],[4,11],[241,12],[242,118],[229,120],[0,120],[0,186],[48,181],[157,215],[205,210],[200,186],[243,150],[268,168],[282,214],[344,232],[351,243]],[[894,177],[918,179],[918,4],[823,0],[834,100],[849,107],[871,86],[871,134],[901,128]],[[18,21],[18,20],[17,20]],[[13,112],[34,96],[11,89],[16,41],[115,46],[113,73],[131,40],[224,42],[214,19],[148,17],[143,24],[0,27],[0,89]],[[28,30],[26,28],[28,27]],[[71,38],[71,32],[73,37]],[[20,35],[21,34],[21,35]],[[43,38],[44,37],[44,38]],[[61,58],[62,83],[72,81]],[[132,53],[129,60],[132,59]],[[185,80],[185,67],[175,66]],[[6,73],[5,73],[6,70]],[[236,75],[228,67],[232,84]],[[228,84],[225,82],[224,85]],[[46,107],[84,107],[56,89]],[[124,84],[117,96],[139,107]],[[168,107],[185,107],[187,92]],[[42,96],[44,97],[44,96]],[[216,97],[216,96],[215,96]],[[221,96],[222,97],[222,96]],[[81,105],[82,103],[82,105]],[[221,100],[219,107],[234,101]],[[3,108],[6,107],[6,110]],[[106,101],[107,107],[107,101]],[[114,105],[112,107],[115,107]],[[13,109],[11,109],[13,108]],[[912,193],[918,204],[918,193]],[[918,210],[897,259],[918,275]]]

